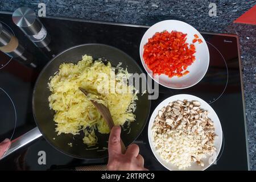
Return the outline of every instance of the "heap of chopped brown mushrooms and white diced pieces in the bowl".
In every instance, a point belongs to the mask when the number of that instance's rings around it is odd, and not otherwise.
[[[155,118],[153,140],[159,155],[184,169],[216,151],[214,123],[208,111],[201,109],[199,101],[174,101],[158,111]]]

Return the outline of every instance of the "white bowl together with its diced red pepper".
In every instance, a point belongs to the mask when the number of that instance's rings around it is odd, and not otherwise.
[[[148,28],[139,52],[148,75],[167,88],[196,85],[209,66],[209,49],[203,36],[179,20],[164,20]]]

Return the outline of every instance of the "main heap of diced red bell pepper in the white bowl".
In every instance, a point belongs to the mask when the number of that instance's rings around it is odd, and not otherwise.
[[[189,71],[185,69],[195,61],[196,47],[186,43],[186,36],[187,34],[177,31],[156,32],[144,45],[143,58],[147,67],[158,75],[187,75]]]

